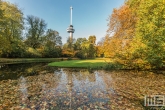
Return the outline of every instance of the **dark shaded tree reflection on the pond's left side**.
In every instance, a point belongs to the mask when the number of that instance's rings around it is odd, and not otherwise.
[[[0,65],[0,81],[7,79],[18,79],[21,76],[33,76],[39,72],[46,73],[46,63],[24,63],[24,64],[1,64]]]

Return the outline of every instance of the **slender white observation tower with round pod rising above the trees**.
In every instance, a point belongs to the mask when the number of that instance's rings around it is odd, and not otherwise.
[[[73,29],[73,25],[72,25],[72,10],[73,10],[73,7],[71,6],[70,7],[70,26],[67,28],[67,32],[70,33],[70,38],[72,39],[73,38],[73,33],[74,33],[74,29]]]

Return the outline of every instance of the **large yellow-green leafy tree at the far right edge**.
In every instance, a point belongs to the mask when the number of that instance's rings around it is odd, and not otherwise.
[[[162,0],[128,0],[137,22],[130,48],[125,56],[133,67],[159,69],[164,67],[165,6]],[[136,7],[136,8],[135,8]]]

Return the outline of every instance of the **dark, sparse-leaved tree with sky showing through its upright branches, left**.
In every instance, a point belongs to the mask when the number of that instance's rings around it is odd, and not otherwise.
[[[27,40],[25,43],[35,49],[41,44],[41,37],[44,35],[47,24],[43,19],[32,15],[27,16],[26,20],[28,33],[26,34]]]

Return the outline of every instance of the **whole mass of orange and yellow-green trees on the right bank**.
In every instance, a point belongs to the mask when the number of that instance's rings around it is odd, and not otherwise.
[[[162,68],[164,66],[164,16],[162,0],[126,0],[109,17],[103,47],[126,68]]]

